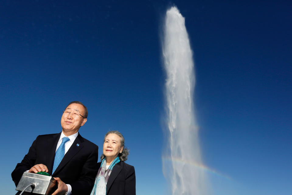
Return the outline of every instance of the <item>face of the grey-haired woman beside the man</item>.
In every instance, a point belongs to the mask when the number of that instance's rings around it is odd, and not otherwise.
[[[117,134],[108,134],[103,143],[103,154],[106,158],[114,159],[122,151],[123,147],[121,147],[120,136]]]

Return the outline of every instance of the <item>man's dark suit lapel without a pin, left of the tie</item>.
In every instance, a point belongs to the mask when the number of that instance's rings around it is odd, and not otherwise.
[[[47,167],[49,170],[49,174],[52,174],[53,166],[54,166],[54,160],[55,160],[55,153],[58,141],[60,139],[61,133],[54,134],[47,140]]]

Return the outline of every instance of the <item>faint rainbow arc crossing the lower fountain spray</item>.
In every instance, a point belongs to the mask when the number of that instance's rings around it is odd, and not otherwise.
[[[178,164],[188,164],[188,165],[191,165],[193,167],[196,167],[197,169],[203,170],[204,172],[206,172],[208,174],[212,174],[212,175],[215,175],[217,177],[222,177],[222,178],[225,178],[227,180],[232,180],[232,178],[229,177],[228,175],[222,174],[214,169],[211,169],[203,164],[199,164],[199,163],[196,163],[194,161],[181,160],[179,158],[174,158],[174,157],[171,158],[171,157],[165,157],[165,156],[162,157],[162,160],[167,160],[167,161],[170,161],[172,163],[175,162]]]

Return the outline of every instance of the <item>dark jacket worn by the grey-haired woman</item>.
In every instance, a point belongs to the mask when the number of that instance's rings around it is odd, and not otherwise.
[[[98,164],[98,168],[101,162]],[[114,167],[106,183],[106,195],[135,195],[136,176],[133,166],[119,162]]]

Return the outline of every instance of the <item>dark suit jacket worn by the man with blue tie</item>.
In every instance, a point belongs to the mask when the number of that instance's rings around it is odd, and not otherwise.
[[[36,164],[46,165],[49,170],[48,173],[52,174],[55,151],[60,135],[61,133],[36,137],[28,153],[21,163],[16,165],[11,174],[16,186],[23,172],[30,170]],[[72,195],[90,194],[96,169],[99,168],[97,162],[98,146],[78,134],[52,176],[60,177],[64,183],[70,184]]]

